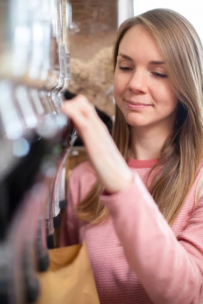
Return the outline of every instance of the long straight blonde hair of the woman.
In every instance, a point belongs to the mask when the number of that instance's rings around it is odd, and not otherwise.
[[[165,142],[158,163],[163,165],[162,170],[148,188],[168,224],[172,225],[203,158],[202,46],[195,29],[183,16],[172,10],[155,9],[130,18],[120,26],[114,48],[114,69],[123,36],[138,24],[145,26],[153,35],[179,100],[177,125],[174,134]],[[127,159],[129,126],[117,106],[113,139]],[[102,184],[97,181],[78,205],[80,219],[99,223],[107,217],[108,211],[99,201],[101,189]]]

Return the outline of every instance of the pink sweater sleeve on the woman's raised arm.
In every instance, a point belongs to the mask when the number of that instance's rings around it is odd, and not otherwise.
[[[172,232],[140,176],[126,191],[101,195],[130,268],[155,304],[199,304],[203,274],[203,199],[185,231]]]

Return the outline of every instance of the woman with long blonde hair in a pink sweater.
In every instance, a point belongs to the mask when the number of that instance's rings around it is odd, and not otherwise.
[[[101,304],[200,303],[202,59],[184,17],[152,10],[118,31],[114,141],[85,97],[64,105],[91,165],[70,178],[61,244],[86,240]]]

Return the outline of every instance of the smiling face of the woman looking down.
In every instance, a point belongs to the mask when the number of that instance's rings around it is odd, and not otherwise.
[[[174,126],[178,101],[156,42],[142,25],[130,28],[120,43],[114,98],[132,127]]]

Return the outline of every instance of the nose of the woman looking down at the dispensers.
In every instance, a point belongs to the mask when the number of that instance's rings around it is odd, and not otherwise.
[[[133,93],[147,93],[148,83],[146,72],[141,69],[136,69],[130,78],[127,89]]]

